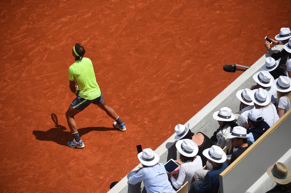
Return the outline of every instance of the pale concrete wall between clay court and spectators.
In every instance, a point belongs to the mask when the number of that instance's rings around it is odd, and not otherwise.
[[[283,45],[278,45],[276,50],[281,50]],[[207,136],[212,136],[213,132],[217,130],[218,124],[217,121],[212,118],[212,115],[215,111],[218,111],[220,108],[226,106],[233,110],[233,112],[239,111],[240,101],[236,98],[235,94],[238,90],[244,88],[250,88],[251,85],[255,85],[252,76],[255,72],[260,71],[262,65],[265,64],[265,59],[268,57],[268,54],[264,54],[258,61],[256,61],[251,68],[242,73],[233,83],[226,87],[217,97],[210,101],[204,108],[202,108],[197,114],[195,114],[187,123],[190,124],[191,131],[203,132]],[[222,66],[221,66],[222,70]],[[235,72],[240,73],[240,72]],[[232,75],[231,72],[228,74]],[[210,91],[211,92],[211,91]],[[177,123],[178,124],[178,123]],[[174,133],[174,128],[173,128]],[[169,159],[177,159],[177,150],[175,148],[176,140],[174,139],[175,134],[170,136],[162,145],[160,145],[155,151],[160,155],[161,163],[166,163]],[[137,170],[138,167],[141,167],[141,164],[137,165],[133,170]],[[130,173],[130,172],[129,172]],[[128,174],[129,175],[129,174]],[[143,183],[137,185],[128,185],[127,179],[128,175],[125,176],[118,184],[116,184],[108,193],[138,193],[145,192],[143,190]]]

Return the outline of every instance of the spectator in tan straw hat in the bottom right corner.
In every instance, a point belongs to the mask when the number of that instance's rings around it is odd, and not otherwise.
[[[287,192],[291,193],[291,169],[284,163],[277,162],[267,169],[267,174],[277,183],[269,192]]]

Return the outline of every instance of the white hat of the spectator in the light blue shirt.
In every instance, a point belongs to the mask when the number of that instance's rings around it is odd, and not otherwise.
[[[159,162],[160,156],[150,148],[144,149],[142,152],[137,154],[139,161],[146,166],[155,165]]]

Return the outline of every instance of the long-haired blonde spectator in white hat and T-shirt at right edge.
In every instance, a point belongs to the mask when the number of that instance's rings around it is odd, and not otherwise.
[[[281,118],[291,108],[291,78],[280,76],[274,81],[277,90],[278,116]]]

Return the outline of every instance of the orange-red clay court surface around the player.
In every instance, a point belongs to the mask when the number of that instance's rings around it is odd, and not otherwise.
[[[0,2],[0,192],[107,192],[291,27],[286,1]],[[73,149],[65,112],[72,47],[92,60],[105,101],[77,114],[86,147]],[[56,114],[55,126],[51,114]]]

